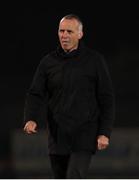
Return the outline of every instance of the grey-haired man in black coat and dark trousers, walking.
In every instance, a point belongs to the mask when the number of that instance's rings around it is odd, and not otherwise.
[[[91,157],[109,145],[114,117],[112,83],[103,57],[81,39],[74,14],[59,23],[59,47],[40,62],[28,91],[24,131],[36,133],[48,95],[48,149],[54,178],[86,178]]]

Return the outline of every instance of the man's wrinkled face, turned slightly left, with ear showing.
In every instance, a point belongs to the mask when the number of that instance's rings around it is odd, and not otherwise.
[[[58,36],[64,51],[77,49],[79,40],[83,36],[80,24],[76,19],[62,19],[59,24]]]

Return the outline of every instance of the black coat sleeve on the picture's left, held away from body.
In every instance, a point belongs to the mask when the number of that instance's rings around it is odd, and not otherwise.
[[[27,91],[24,106],[24,123],[28,120],[34,120],[39,124],[41,107],[45,102],[47,94],[47,75],[45,59],[40,61],[37,67],[33,81]]]

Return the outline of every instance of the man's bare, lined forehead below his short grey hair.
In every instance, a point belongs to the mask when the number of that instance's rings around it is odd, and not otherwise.
[[[76,19],[62,19],[59,24],[60,29],[76,29],[79,22]]]

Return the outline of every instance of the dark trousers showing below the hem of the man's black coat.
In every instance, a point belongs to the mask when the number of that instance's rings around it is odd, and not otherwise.
[[[91,162],[91,152],[71,155],[50,155],[54,179],[85,179]]]

